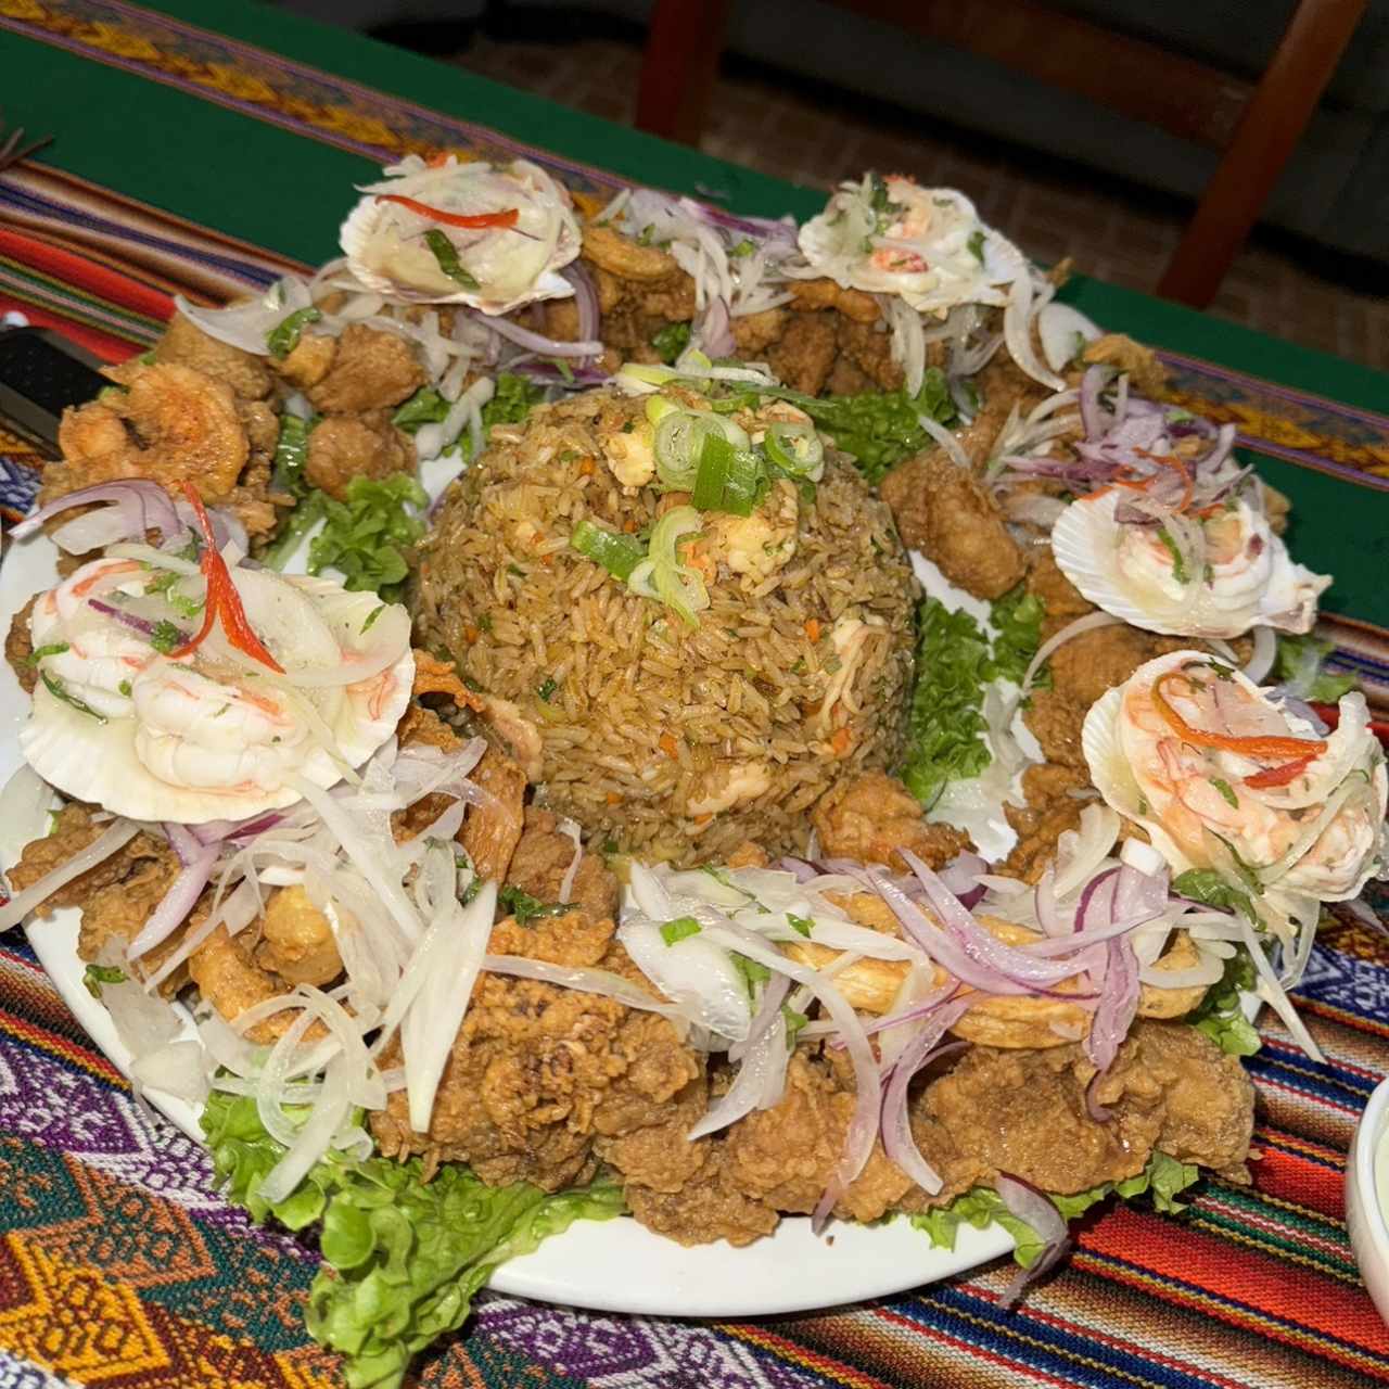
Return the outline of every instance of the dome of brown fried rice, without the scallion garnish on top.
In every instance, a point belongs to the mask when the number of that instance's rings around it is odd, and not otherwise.
[[[569,544],[585,517],[629,535],[658,517],[661,494],[624,488],[603,451],[642,415],[597,390],[493,428],[422,544],[418,638],[535,726],[538,803],[596,840],[678,864],[749,839],[803,850],[815,800],[901,751],[911,565],[831,451],[790,560],[760,581],[720,565],[689,626]]]

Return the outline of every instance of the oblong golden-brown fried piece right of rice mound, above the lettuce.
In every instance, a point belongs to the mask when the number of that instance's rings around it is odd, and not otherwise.
[[[975,597],[1001,597],[1026,574],[1026,558],[989,490],[943,450],[899,464],[881,492],[903,542]]]

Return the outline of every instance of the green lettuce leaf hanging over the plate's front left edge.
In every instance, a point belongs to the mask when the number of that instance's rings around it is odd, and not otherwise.
[[[576,1220],[607,1220],[624,1208],[610,1183],[547,1196],[525,1182],[488,1186],[453,1164],[425,1182],[418,1158],[358,1161],[339,1153],[271,1204],[260,1186],[285,1149],[263,1128],[256,1101],[214,1090],[203,1131],[228,1199],[253,1220],[274,1217],[290,1229],[322,1222],[324,1267],[308,1290],[306,1321],[319,1345],[344,1357],[349,1389],[396,1389],[418,1351],[463,1325],[499,1264]]]

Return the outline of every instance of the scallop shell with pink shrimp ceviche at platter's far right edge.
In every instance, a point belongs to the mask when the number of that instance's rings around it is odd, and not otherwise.
[[[1345,901],[1383,867],[1385,757],[1365,699],[1333,732],[1197,651],[1142,665],[1085,720],[1104,800],[1175,872],[1214,870],[1268,924]]]

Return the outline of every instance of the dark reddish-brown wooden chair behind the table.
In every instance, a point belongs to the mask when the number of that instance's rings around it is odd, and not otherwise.
[[[1222,150],[1157,286],[1165,299],[1204,308],[1317,110],[1367,0],[1300,0],[1257,83],[1033,0],[832,3]],[[656,0],[636,103],[640,129],[699,143],[729,4]]]

